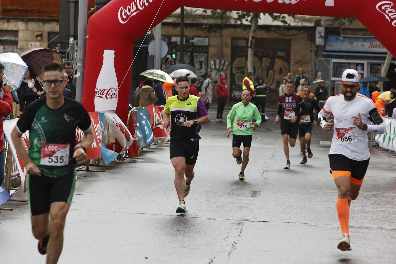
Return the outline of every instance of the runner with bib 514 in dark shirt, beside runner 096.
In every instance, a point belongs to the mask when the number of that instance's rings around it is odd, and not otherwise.
[[[318,102],[315,99],[309,98],[309,94],[311,93],[311,89],[309,86],[304,86],[303,90],[303,100],[304,103],[301,106],[301,111],[298,114],[299,117],[299,136],[300,136],[300,147],[301,152],[304,156],[303,160],[300,164],[307,163],[307,156],[305,154],[305,144],[307,144],[308,157],[312,158],[313,154],[311,151],[311,136],[314,126],[316,126],[318,121],[318,113],[320,112],[320,108]],[[314,116],[314,109],[316,110],[316,114]]]

